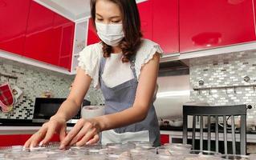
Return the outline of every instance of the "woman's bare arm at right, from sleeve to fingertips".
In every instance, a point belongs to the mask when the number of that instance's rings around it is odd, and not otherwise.
[[[156,53],[142,67],[136,90],[136,98],[132,107],[115,114],[108,114],[87,120],[80,119],[62,141],[60,148],[68,144],[73,145],[74,143],[77,146],[91,144],[99,140],[98,133],[100,131],[127,126],[144,120],[148,114],[148,109],[152,102],[152,95],[156,87],[159,62],[160,55]]]

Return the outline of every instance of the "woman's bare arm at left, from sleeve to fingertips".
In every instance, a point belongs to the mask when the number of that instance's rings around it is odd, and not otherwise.
[[[59,138],[62,141],[66,136],[66,122],[79,110],[90,83],[90,76],[85,74],[84,70],[78,69],[67,100],[59,107],[58,112],[50,118],[50,121],[44,123],[39,131],[26,141],[24,147],[28,148],[46,144],[55,133],[59,134]]]

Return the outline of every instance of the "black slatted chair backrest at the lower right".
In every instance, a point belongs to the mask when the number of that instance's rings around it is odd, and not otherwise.
[[[236,154],[236,137],[234,127],[234,116],[240,116],[240,154],[246,154],[246,105],[236,106],[183,106],[183,143],[186,144],[188,140],[188,116],[193,116],[193,129],[192,129],[192,146],[195,146],[196,134],[196,116],[200,117],[200,150],[203,150],[203,118],[208,118],[207,130],[207,148],[210,150],[210,120],[211,117],[215,118],[215,150],[218,152],[219,130],[218,118],[223,118],[223,141],[225,154],[227,154],[227,116],[231,118],[231,136],[232,136],[232,149],[233,154]]]

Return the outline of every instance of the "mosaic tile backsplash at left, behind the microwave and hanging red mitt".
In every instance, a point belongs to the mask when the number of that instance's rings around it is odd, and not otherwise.
[[[9,82],[11,88],[18,86],[22,95],[9,113],[0,111],[0,118],[32,119],[35,98],[42,97],[44,91],[51,91],[53,98],[67,98],[69,87],[75,76],[59,74],[55,71],[45,70],[35,66],[28,66],[19,62],[0,59],[0,73],[18,77],[17,80],[0,76],[0,84]],[[104,103],[100,90],[90,87],[85,97],[92,105]]]

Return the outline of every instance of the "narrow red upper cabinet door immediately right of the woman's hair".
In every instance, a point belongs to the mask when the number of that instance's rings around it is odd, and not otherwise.
[[[143,38],[152,39],[152,0],[137,4]]]

